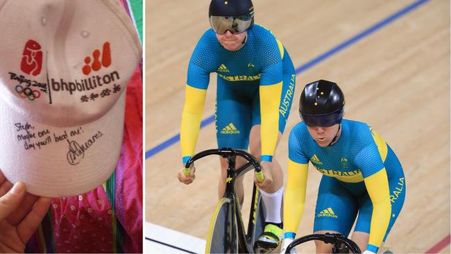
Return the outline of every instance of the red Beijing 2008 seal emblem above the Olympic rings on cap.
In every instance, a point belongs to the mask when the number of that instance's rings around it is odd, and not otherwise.
[[[22,62],[20,69],[26,74],[36,76],[41,73],[42,68],[42,50],[41,45],[34,40],[28,40],[22,53]]]

